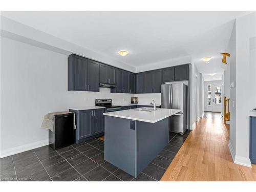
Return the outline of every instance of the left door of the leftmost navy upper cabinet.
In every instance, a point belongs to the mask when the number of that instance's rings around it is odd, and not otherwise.
[[[73,91],[87,91],[87,59],[73,56]]]

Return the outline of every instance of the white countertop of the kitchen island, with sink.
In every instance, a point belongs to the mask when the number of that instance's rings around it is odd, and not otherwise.
[[[152,109],[152,108],[150,108]],[[119,117],[124,119],[131,119],[136,121],[144,121],[149,123],[155,123],[166,117],[172,116],[176,113],[181,112],[181,110],[173,109],[160,109],[152,112],[146,111],[136,111],[136,110],[124,110],[124,111],[115,111],[109,113],[103,113],[106,116]]]

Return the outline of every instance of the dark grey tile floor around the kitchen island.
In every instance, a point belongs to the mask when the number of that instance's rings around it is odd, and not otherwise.
[[[0,159],[1,181],[159,181],[189,132],[169,134],[169,143],[135,179],[104,161],[99,139],[69,145],[57,151],[42,146]]]

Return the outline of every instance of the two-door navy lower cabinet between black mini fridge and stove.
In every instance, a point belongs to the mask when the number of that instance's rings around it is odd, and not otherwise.
[[[99,137],[104,133],[105,109],[74,111],[76,120],[76,143]]]

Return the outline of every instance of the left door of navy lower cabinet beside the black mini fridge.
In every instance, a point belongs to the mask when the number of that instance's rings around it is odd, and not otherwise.
[[[92,117],[92,111],[79,111],[78,139],[83,139],[93,134]]]

